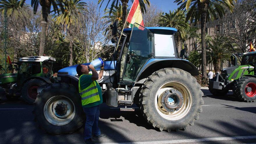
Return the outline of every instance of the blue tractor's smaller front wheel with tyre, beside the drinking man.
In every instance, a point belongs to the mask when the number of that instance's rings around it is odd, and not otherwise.
[[[35,120],[49,134],[71,134],[83,126],[85,114],[73,85],[52,83],[35,100]]]

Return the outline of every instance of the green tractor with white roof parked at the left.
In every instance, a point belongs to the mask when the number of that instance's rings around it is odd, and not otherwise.
[[[47,83],[55,82],[52,65],[55,58],[49,56],[30,56],[20,58],[15,63],[18,73],[0,75],[0,94],[7,99],[17,99],[20,96],[33,104],[37,96],[37,88]]]

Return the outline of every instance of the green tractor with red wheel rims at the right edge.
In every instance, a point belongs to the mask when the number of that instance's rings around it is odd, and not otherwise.
[[[239,100],[254,102],[256,99],[256,51],[242,54],[241,65],[237,65],[237,56],[232,54],[232,65],[217,73],[209,81],[209,91],[213,95],[226,95],[232,90]]]

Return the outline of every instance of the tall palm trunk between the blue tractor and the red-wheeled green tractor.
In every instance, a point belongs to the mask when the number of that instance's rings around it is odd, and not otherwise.
[[[207,79],[207,75],[206,75],[206,49],[205,49],[205,27],[206,27],[206,13],[201,13],[202,77]]]

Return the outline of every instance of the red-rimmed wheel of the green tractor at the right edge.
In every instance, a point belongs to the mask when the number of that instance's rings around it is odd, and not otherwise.
[[[239,100],[244,102],[254,102],[256,100],[256,78],[243,77],[234,85]]]

